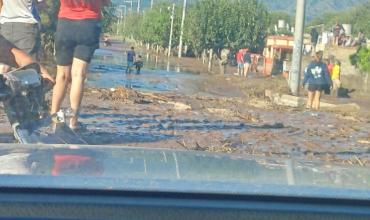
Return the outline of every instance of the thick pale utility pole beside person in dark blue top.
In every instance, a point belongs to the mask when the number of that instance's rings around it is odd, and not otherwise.
[[[299,87],[301,81],[305,9],[306,0],[297,0],[292,70],[289,77],[290,90],[292,91],[293,95],[296,96],[299,95]]]

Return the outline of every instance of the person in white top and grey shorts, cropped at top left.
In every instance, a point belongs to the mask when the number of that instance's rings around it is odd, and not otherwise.
[[[0,0],[0,33],[18,49],[38,60],[41,45],[38,4],[43,0]]]

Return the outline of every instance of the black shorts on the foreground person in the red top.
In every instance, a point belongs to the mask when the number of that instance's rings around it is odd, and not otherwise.
[[[90,63],[99,48],[100,33],[99,20],[59,19],[55,39],[57,64],[70,66],[73,58]]]

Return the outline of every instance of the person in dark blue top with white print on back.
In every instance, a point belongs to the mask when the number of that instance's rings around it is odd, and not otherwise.
[[[313,60],[305,69],[303,87],[308,85],[308,109],[320,109],[320,99],[322,92],[332,87],[327,65],[322,62],[323,52],[318,51]]]

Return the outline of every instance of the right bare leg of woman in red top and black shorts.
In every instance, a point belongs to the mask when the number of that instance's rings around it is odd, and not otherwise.
[[[88,63],[74,58],[72,64],[72,84],[71,84],[71,94],[70,102],[71,109],[76,115],[71,118],[71,127],[75,127],[78,121],[78,111],[80,110],[80,105],[83,97],[84,84],[86,79],[86,69]]]

